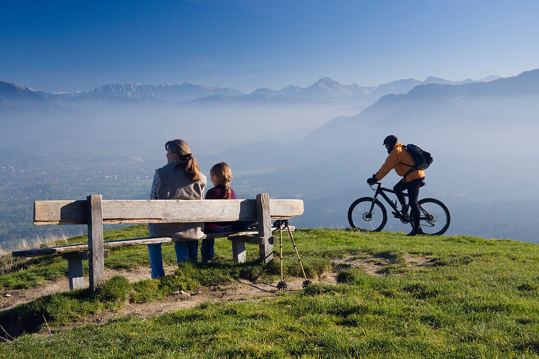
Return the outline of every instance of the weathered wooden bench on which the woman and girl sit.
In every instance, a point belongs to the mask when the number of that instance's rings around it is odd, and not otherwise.
[[[259,194],[256,199],[157,199],[103,201],[101,195],[88,196],[86,201],[36,201],[34,224],[86,224],[88,243],[33,250],[14,251],[13,257],[36,257],[61,254],[67,259],[70,289],[84,286],[82,260],[88,260],[91,291],[105,282],[106,248],[138,246],[184,241],[182,238],[134,238],[103,241],[103,223],[189,223],[258,221],[253,231],[206,234],[204,238],[227,237],[232,241],[233,259],[246,260],[245,243],[259,245],[264,263],[273,259],[272,219],[288,219],[303,213],[300,199],[269,199]]]

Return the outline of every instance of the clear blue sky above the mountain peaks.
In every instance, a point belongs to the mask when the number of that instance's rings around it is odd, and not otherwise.
[[[0,80],[251,92],[539,68],[539,1],[2,1]]]

